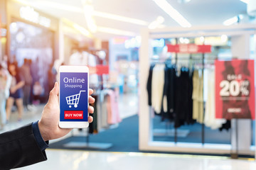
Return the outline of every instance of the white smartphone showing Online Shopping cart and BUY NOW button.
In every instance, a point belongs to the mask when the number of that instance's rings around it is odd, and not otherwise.
[[[89,69],[86,66],[60,66],[60,128],[87,128]]]

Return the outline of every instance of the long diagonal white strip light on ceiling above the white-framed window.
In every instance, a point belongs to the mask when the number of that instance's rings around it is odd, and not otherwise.
[[[191,27],[186,18],[179,13],[174,7],[172,7],[166,0],[153,0],[163,11],[165,11],[171,18],[173,18],[182,27]]]

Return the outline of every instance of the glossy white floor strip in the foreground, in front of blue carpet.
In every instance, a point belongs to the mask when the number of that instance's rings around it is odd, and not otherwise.
[[[255,170],[256,162],[225,157],[142,154],[125,152],[47,151],[48,161],[21,169],[104,170]]]

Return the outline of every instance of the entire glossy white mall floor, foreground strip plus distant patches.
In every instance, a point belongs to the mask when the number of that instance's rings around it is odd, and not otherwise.
[[[136,94],[124,95],[120,97],[119,109],[120,116],[127,118],[137,113]],[[127,104],[128,103],[128,104]],[[25,112],[22,122],[17,122],[17,113],[12,113],[11,121],[4,130],[12,130],[21,125],[31,123],[41,117],[43,105],[37,106],[35,111]],[[78,131],[73,130],[73,133]],[[70,134],[69,134],[70,135]],[[68,135],[68,136],[69,136]],[[68,137],[66,136],[66,137]],[[51,141],[55,142],[55,141]],[[171,169],[171,170],[255,170],[256,162],[254,160],[235,160],[226,157],[202,157],[186,156],[174,154],[143,154],[127,152],[86,152],[71,151],[60,149],[47,149],[48,161],[26,166],[21,169],[104,169],[104,170],[136,170],[136,169]]]

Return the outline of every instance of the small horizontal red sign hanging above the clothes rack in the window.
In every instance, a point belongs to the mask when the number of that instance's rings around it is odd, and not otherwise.
[[[167,45],[168,52],[176,53],[206,53],[211,52],[210,45],[181,44]]]

